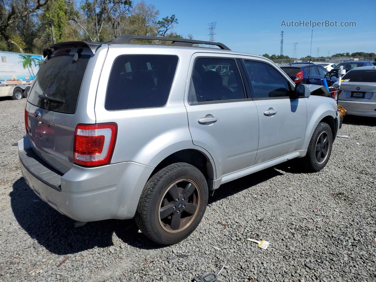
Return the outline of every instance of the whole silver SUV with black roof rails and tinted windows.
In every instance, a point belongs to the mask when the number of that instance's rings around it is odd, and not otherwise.
[[[27,184],[77,225],[135,217],[159,244],[188,237],[223,183],[293,158],[321,170],[340,125],[333,99],[221,43],[124,35],[44,57],[18,142]]]

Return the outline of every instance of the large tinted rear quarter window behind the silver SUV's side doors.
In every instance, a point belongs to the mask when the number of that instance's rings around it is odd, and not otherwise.
[[[105,108],[124,110],[161,107],[167,102],[178,57],[122,55],[115,59]]]

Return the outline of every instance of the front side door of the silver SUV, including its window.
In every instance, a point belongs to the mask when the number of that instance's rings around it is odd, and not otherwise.
[[[255,164],[301,150],[307,124],[305,99],[290,99],[294,87],[268,61],[242,56],[259,117]]]

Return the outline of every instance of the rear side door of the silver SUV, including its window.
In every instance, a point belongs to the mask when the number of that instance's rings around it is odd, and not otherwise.
[[[194,54],[185,98],[193,143],[211,153],[218,177],[250,167],[258,147],[256,105],[246,96],[235,57]]]

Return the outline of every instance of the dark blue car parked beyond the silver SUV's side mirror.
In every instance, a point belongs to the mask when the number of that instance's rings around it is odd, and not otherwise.
[[[321,85],[321,79],[325,78],[327,85],[332,86],[338,81],[337,77],[329,75],[329,72],[320,65],[291,64],[283,65],[281,68],[296,84]]]

